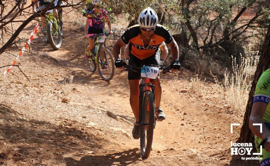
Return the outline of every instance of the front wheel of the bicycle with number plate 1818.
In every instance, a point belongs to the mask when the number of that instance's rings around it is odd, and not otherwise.
[[[146,91],[142,102],[142,123],[140,126],[140,148],[142,158],[148,158],[151,152],[155,128],[155,99],[151,91]]]

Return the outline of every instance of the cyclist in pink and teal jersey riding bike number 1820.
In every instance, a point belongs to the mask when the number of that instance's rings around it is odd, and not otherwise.
[[[94,40],[90,37],[95,34],[103,34],[103,24],[104,21],[108,23],[108,27],[110,29],[110,34],[113,34],[111,22],[108,18],[108,12],[104,9],[99,8],[99,0],[93,0],[92,5],[93,9],[89,11],[88,9],[85,10],[87,13],[87,19],[85,24],[85,37],[88,39],[89,46],[85,50],[85,56],[87,59],[90,59],[90,54],[93,53],[94,50]],[[88,27],[88,28],[87,28]]]

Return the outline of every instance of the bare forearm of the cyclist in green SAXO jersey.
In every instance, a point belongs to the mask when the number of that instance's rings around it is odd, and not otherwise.
[[[253,123],[262,124],[262,132],[261,132],[261,126],[253,125]],[[264,139],[265,137],[270,139],[270,130],[265,126],[265,124],[262,122],[262,119],[260,117],[250,117],[249,128],[260,139]]]

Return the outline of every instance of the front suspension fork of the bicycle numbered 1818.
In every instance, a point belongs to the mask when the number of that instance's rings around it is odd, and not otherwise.
[[[149,78],[148,78],[149,79]],[[149,89],[149,87],[151,88],[151,90]],[[146,90],[147,89],[147,90]],[[145,84],[140,84],[140,94],[139,94],[139,122],[138,122],[138,125],[139,126],[148,126],[148,124],[146,123],[143,123],[142,122],[142,109],[143,109],[143,94],[146,92],[146,91],[152,91],[154,97],[155,97],[155,85],[151,85],[149,83],[145,83]],[[155,99],[155,98],[154,98]],[[156,123],[155,123],[155,126],[156,126]]]

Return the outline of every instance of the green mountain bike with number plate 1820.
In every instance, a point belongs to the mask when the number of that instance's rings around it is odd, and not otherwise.
[[[101,78],[105,81],[110,81],[114,75],[114,61],[112,53],[105,47],[106,36],[109,36],[109,33],[91,36],[92,39],[95,39],[94,53],[96,55],[91,53],[91,59],[87,59],[87,64],[91,72],[95,72],[96,66],[98,66]],[[85,50],[88,45],[89,43],[86,40]]]

